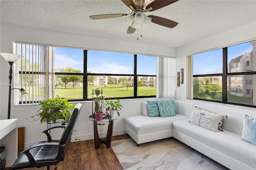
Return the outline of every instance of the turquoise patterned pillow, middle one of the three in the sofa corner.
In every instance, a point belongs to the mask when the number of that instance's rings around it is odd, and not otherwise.
[[[175,116],[174,108],[170,100],[157,100],[160,117]]]

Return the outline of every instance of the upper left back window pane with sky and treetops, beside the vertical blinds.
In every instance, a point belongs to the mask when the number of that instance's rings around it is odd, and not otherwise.
[[[56,73],[83,73],[84,50],[55,47],[54,68]]]

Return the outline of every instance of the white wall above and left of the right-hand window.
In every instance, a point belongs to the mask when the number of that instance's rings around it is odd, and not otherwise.
[[[209,51],[210,49],[222,48],[233,45],[234,43],[242,43],[243,41],[252,39],[256,39],[255,21],[176,48],[177,71],[180,71],[181,68],[184,68],[184,84],[180,84],[180,87],[176,87],[176,99],[183,101],[186,100],[187,55],[199,53],[202,51]]]

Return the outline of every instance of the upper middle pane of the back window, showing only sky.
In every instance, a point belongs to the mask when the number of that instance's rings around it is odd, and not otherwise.
[[[90,73],[133,74],[134,55],[87,51],[87,71]]]

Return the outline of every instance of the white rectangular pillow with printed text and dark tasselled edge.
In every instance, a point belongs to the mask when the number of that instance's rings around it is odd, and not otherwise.
[[[200,127],[208,128],[213,131],[222,130],[222,120],[225,115],[216,114],[195,106],[192,110],[189,121]]]

